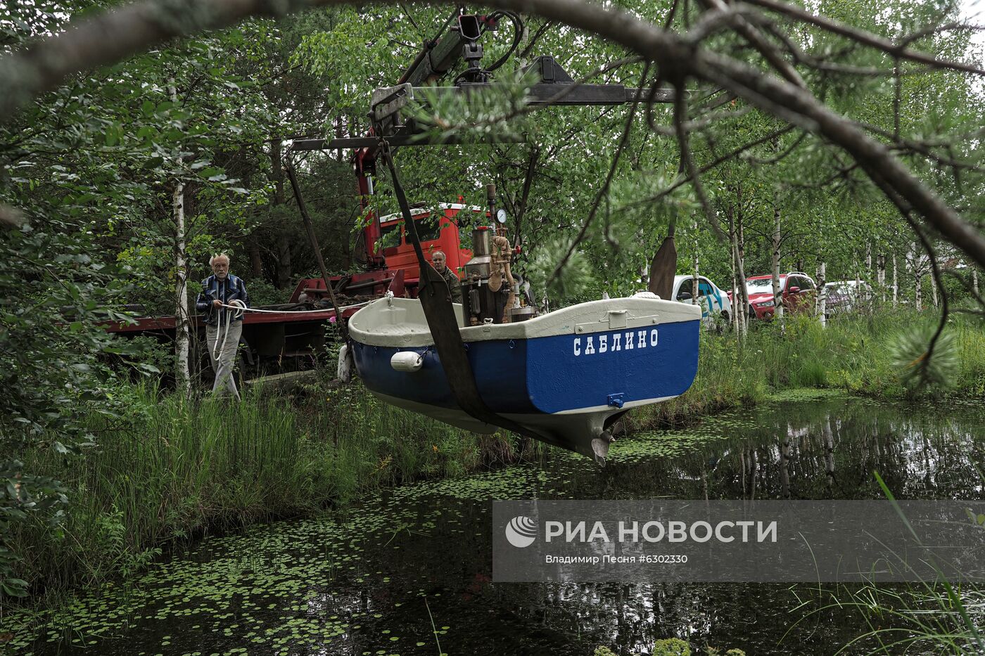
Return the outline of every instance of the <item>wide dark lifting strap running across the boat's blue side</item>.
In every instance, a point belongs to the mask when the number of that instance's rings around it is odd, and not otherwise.
[[[475,374],[472,372],[472,363],[469,362],[465,344],[462,342],[462,335],[459,332],[448,284],[425,259],[424,250],[421,248],[421,239],[418,236],[418,228],[411,216],[411,208],[407,203],[404,188],[400,184],[400,178],[397,176],[397,168],[393,164],[389,144],[385,140],[380,141],[382,142],[383,159],[390,169],[393,189],[397,195],[397,202],[400,204],[400,211],[404,215],[404,230],[411,237],[414,252],[418,256],[418,265],[421,267],[418,299],[421,300],[421,306],[425,311],[427,328],[434,340],[434,349],[441,361],[444,375],[448,379],[448,386],[451,387],[455,402],[458,403],[459,408],[480,422],[506,428],[539,441],[554,442],[555,440],[549,435],[543,435],[530,428],[520,426],[505,417],[496,415],[483,401],[479,394],[479,386],[476,384]]]

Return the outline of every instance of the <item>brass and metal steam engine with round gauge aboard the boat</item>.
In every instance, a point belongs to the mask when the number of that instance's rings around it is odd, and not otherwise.
[[[473,258],[462,276],[462,313],[466,326],[516,323],[537,316],[520,276],[510,271],[513,248],[506,236],[506,213],[495,209],[495,185],[486,186],[495,228],[472,230]]]

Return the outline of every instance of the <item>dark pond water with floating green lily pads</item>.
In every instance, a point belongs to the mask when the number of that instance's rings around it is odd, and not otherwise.
[[[985,498],[985,410],[779,402],[620,438],[605,469],[541,464],[382,492],[342,512],[208,538],[33,634],[37,654],[563,654],[654,640],[833,654],[867,630],[805,619],[810,586],[493,584],[491,500]],[[817,587],[817,586],[815,586]],[[24,636],[18,636],[22,638]],[[856,653],[849,650],[847,653]]]

